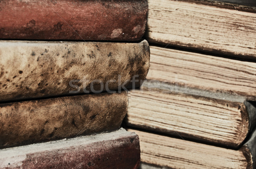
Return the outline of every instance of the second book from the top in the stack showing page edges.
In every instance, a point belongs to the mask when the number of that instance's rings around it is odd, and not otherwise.
[[[150,46],[146,79],[256,100],[256,63]]]

